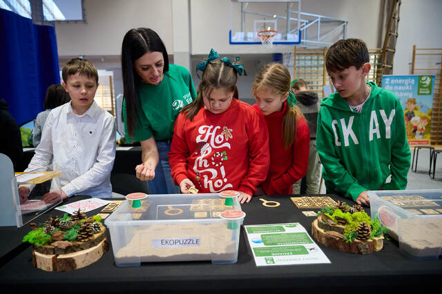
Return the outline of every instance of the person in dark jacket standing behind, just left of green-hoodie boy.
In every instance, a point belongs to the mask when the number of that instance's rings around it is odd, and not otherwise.
[[[309,146],[309,166],[305,179],[307,182],[307,194],[318,194],[320,185],[320,161],[318,151],[316,151],[316,125],[318,120],[318,112],[320,107],[320,99],[318,94],[309,91],[307,84],[302,78],[291,84],[291,90],[296,96],[296,106],[301,109],[304,114],[307,125],[310,129],[310,146]],[[301,180],[293,185],[293,193],[300,194]]]

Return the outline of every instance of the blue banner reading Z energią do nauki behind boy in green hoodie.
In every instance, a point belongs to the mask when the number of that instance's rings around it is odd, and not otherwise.
[[[382,87],[396,94],[401,101],[410,145],[430,144],[435,78],[434,75],[382,77]]]

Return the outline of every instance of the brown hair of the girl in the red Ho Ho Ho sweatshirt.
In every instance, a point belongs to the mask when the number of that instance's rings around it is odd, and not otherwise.
[[[198,86],[195,101],[187,105],[182,109],[182,112],[186,114],[186,118],[191,121],[193,117],[200,111],[204,105],[202,100],[204,96],[210,96],[211,92],[215,89],[225,89],[233,92],[233,98],[238,99],[238,87],[236,87],[236,81],[238,80],[238,74],[230,65],[216,60],[208,61],[206,69],[202,73],[201,83]]]

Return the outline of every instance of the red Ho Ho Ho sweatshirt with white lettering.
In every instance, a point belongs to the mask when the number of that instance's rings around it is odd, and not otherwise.
[[[189,178],[200,193],[233,189],[253,195],[270,164],[264,117],[238,99],[222,114],[202,107],[191,121],[181,113],[168,156],[176,185]]]

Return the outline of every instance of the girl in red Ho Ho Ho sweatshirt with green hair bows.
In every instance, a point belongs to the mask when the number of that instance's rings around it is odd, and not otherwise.
[[[178,115],[173,129],[169,164],[182,193],[229,189],[249,202],[269,171],[269,134],[265,120],[238,100],[236,81],[242,65],[211,50],[196,67],[202,78],[198,96]],[[245,72],[244,72],[245,74]]]

